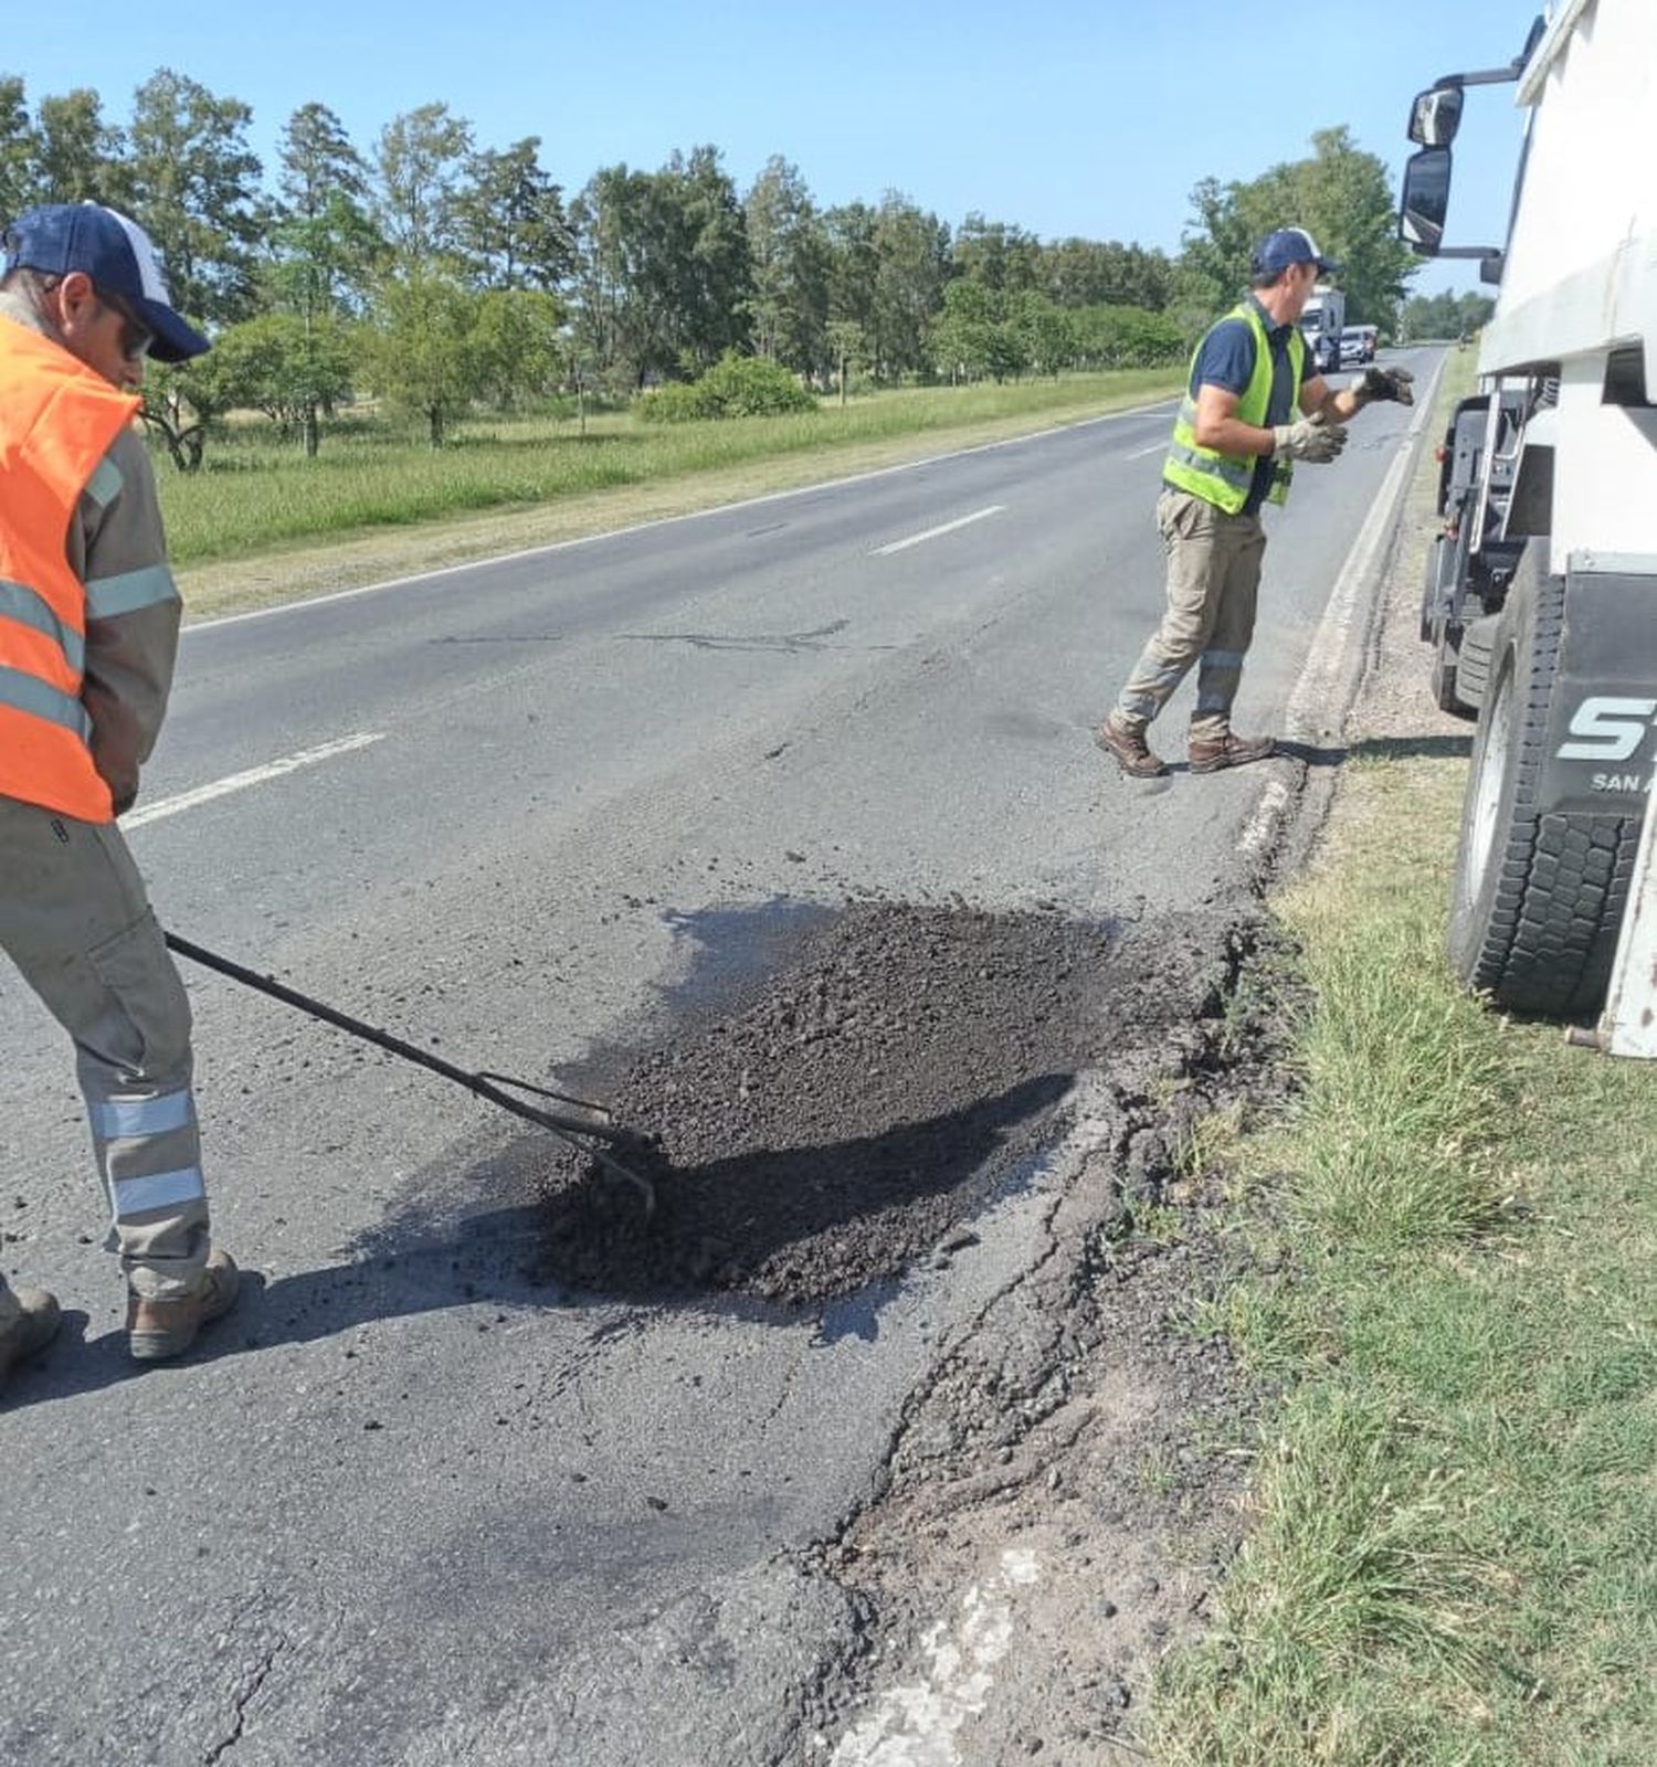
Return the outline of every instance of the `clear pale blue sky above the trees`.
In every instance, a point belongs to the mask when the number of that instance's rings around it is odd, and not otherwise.
[[[654,168],[712,141],[738,187],[783,154],[825,207],[894,187],[950,224],[977,209],[1042,239],[1173,253],[1201,177],[1258,177],[1304,157],[1314,129],[1346,124],[1396,184],[1411,94],[1510,60],[1539,5],[173,0],[147,14],[16,0],[0,72],[23,76],[30,104],[95,87],[124,122],[134,87],[173,67],[253,108],[267,170],[304,102],[334,110],[366,150],[397,113],[443,99],[480,147],[539,134],[565,189],[602,164]],[[1470,95],[1454,242],[1502,242],[1517,140],[1512,87]],[[1413,286],[1477,284],[1472,265],[1436,263]]]

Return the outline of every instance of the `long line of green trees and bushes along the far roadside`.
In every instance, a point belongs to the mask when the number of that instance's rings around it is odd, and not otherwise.
[[[291,113],[274,182],[253,111],[171,69],[124,124],[95,92],[28,104],[0,76],[0,216],[106,201],[138,219],[175,304],[216,348],[152,376],[148,412],[180,466],[226,408],[318,447],[362,391],[417,412],[433,444],[479,401],[578,387],[609,398],[761,357],[816,389],[1177,362],[1247,279],[1252,242],[1309,224],[1346,263],[1348,311],[1396,318],[1410,258],[1383,164],[1344,129],[1261,178],[1192,193],[1182,251],[1040,240],[903,193],[821,207],[772,157],[747,191],[719,148],[654,171],[602,166],[567,191],[542,140],[482,145],[445,102],[359,148],[325,104]]]

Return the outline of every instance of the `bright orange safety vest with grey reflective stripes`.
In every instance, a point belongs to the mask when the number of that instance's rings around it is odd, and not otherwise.
[[[0,797],[113,822],[81,703],[87,588],[65,542],[81,491],[132,421],[62,345],[0,320]]]

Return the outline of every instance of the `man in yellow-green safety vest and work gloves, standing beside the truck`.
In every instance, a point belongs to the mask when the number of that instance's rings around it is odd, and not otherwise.
[[[1168,611],[1097,733],[1134,779],[1168,772],[1146,730],[1192,664],[1191,770],[1217,772],[1272,753],[1270,737],[1231,730],[1267,548],[1260,509],[1288,497],[1295,461],[1337,459],[1346,422],[1366,405],[1415,403],[1403,368],[1369,368],[1339,392],[1316,366],[1307,375],[1300,313],[1318,277],[1335,269],[1305,228],[1268,233],[1254,251],[1251,293],[1191,359],[1157,500]]]

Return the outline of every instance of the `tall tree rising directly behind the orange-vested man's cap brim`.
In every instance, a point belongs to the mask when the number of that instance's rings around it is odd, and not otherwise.
[[[265,217],[251,122],[240,99],[216,97],[170,67],[132,101],[134,216],[161,249],[175,306],[203,320],[237,320],[254,304]]]

